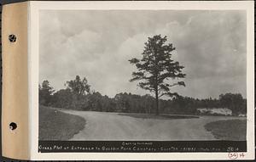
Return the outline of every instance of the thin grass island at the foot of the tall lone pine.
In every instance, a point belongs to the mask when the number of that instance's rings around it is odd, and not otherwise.
[[[137,113],[119,113],[119,115],[125,115],[125,116],[134,117],[134,118],[158,119],[158,120],[199,118],[198,116],[189,116],[189,115],[154,115],[154,114],[137,114]]]

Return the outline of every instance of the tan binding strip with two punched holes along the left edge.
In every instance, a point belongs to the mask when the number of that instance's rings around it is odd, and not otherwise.
[[[3,156],[29,159],[28,107],[28,2],[3,5]],[[9,42],[14,34],[16,42]],[[9,128],[14,122],[15,130]]]

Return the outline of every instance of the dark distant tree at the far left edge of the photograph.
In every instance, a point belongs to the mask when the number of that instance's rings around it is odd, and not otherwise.
[[[49,106],[53,92],[55,92],[55,90],[53,87],[50,87],[49,81],[43,81],[42,86],[39,85],[39,103]]]

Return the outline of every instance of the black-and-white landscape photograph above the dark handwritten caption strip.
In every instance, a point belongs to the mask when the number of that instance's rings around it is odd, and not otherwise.
[[[246,11],[52,9],[38,21],[39,141],[246,143]]]

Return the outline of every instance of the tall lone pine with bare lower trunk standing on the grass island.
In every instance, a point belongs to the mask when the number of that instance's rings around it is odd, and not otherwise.
[[[148,37],[148,42],[145,42],[142,59],[133,58],[131,64],[135,64],[137,71],[132,73],[130,81],[141,81],[138,86],[154,92],[155,95],[155,113],[159,115],[159,98],[167,95],[170,97],[177,96],[177,92],[171,92],[170,88],[174,86],[185,86],[183,81],[169,83],[168,79],[183,78],[183,66],[177,61],[172,60],[172,43],[166,44],[167,37],[156,35]]]

